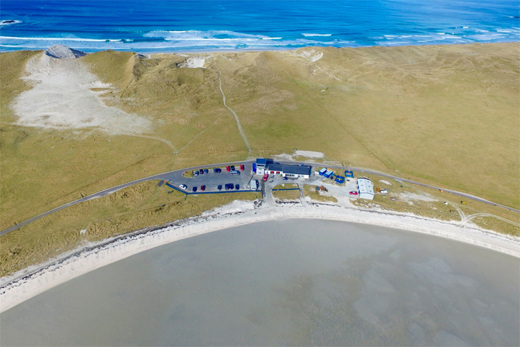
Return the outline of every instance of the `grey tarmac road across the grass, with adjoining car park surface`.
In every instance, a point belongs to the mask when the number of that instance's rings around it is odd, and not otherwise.
[[[245,187],[245,185],[247,185],[249,183],[250,179],[252,178],[251,171],[252,171],[253,162],[254,162],[253,160],[244,160],[242,162],[234,162],[236,169],[239,169],[240,164],[245,165],[245,170],[241,171],[240,176],[229,176],[229,174],[227,174],[227,172],[225,170],[220,174],[210,173],[207,175],[200,175],[198,177],[193,177],[193,178],[187,178],[187,177],[183,176],[184,171],[190,171],[190,170],[194,170],[194,169],[204,169],[204,168],[209,168],[209,167],[224,167],[228,164],[228,163],[221,163],[221,164],[202,165],[200,167],[189,167],[187,169],[165,172],[164,174],[158,174],[158,175],[149,176],[146,178],[141,178],[139,180],[134,180],[132,182],[125,183],[123,185],[118,185],[116,187],[105,189],[105,190],[102,190],[101,192],[97,192],[92,195],[85,196],[84,198],[80,198],[76,201],[71,201],[70,203],[66,203],[65,205],[62,205],[58,208],[53,208],[53,210],[44,212],[36,217],[23,221],[23,222],[17,224],[16,226],[12,226],[10,228],[7,228],[6,230],[3,230],[2,232],[0,232],[0,236],[7,234],[8,232],[11,232],[12,230],[17,230],[18,228],[21,228],[22,226],[25,226],[26,224],[36,221],[37,219],[45,217],[51,213],[57,212],[64,208],[68,208],[69,206],[72,206],[72,205],[76,205],[76,203],[83,203],[83,201],[92,200],[93,198],[101,198],[101,196],[106,196],[108,194],[112,194],[125,187],[130,187],[130,185],[135,185],[136,183],[146,182],[148,180],[168,180],[175,187],[179,187],[180,185],[184,184],[184,185],[188,186],[187,192],[191,192],[191,189],[194,185],[196,185],[198,187],[198,192],[200,192],[200,185],[206,185],[207,192],[216,192],[217,185],[220,185],[220,184],[225,185],[226,183],[234,183],[234,184],[238,183],[240,185],[241,189],[243,189],[243,187]],[[300,164],[301,163],[301,164],[307,164],[307,165],[311,165],[311,166],[315,165],[314,162],[280,161],[280,163],[281,164]],[[322,165],[320,164],[320,166],[322,166]],[[345,169],[344,167],[334,166],[334,165],[327,165],[327,167],[331,167],[334,169]],[[352,169],[352,171],[356,171],[356,172],[364,172],[365,174],[374,174],[374,175],[379,175],[379,176],[383,176],[383,177],[387,177],[387,178],[392,178],[392,179],[395,179],[400,182],[412,183],[414,185],[421,185],[422,187],[428,187],[428,188],[432,188],[432,189],[442,189],[442,190],[444,190],[444,192],[455,194],[457,196],[461,196],[462,198],[479,201],[480,203],[487,203],[489,205],[499,206],[501,208],[505,208],[507,210],[520,213],[520,210],[517,210],[515,208],[510,208],[509,206],[500,205],[499,203],[493,203],[492,201],[487,201],[483,198],[479,198],[478,196],[473,196],[473,195],[462,193],[462,192],[456,192],[454,190],[449,190],[449,189],[442,188],[442,187],[435,187],[433,185],[426,185],[424,183],[415,182],[413,180],[407,180],[405,178],[400,178],[400,177],[392,176],[389,174],[383,174],[379,171],[361,169],[358,167],[349,167],[348,169]],[[266,192],[264,191],[263,184],[261,185],[261,188],[262,188],[263,196],[266,196]]]

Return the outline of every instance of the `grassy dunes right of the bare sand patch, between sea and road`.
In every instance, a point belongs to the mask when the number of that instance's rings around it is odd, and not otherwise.
[[[316,62],[297,56],[310,49],[215,53],[206,69],[180,68],[185,58],[177,55],[124,53],[128,60],[112,65],[105,57],[122,53],[86,58],[123,90],[114,104],[163,119],[157,132],[175,146],[204,130],[184,153],[244,149],[223,108],[220,71],[254,153],[321,151],[329,160],[399,170],[519,206],[518,49],[517,43],[327,48],[315,49],[323,53]],[[127,82],[109,73],[132,64],[139,74]]]

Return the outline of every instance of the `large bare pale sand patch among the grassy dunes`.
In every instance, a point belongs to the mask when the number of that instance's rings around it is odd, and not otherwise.
[[[33,89],[12,103],[17,124],[57,129],[97,128],[112,135],[143,133],[151,128],[144,117],[103,103],[94,88],[106,90],[77,59],[56,59],[42,53],[29,60],[25,81]]]

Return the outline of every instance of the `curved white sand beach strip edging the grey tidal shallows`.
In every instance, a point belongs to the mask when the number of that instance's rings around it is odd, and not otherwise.
[[[95,244],[92,244],[90,245],[91,248],[94,246],[92,251],[83,251],[74,257],[67,257],[60,264],[57,264],[57,260],[53,260],[47,263],[48,265],[44,269],[21,280],[16,279],[30,274],[36,266],[32,269],[19,271],[19,273],[13,276],[1,278],[0,312],[6,311],[10,307],[67,280],[150,248],[234,226],[290,218],[330,219],[368,223],[376,226],[422,232],[520,257],[519,238],[499,235],[495,232],[487,232],[478,228],[462,227],[456,222],[435,221],[433,219],[413,217],[410,214],[370,212],[345,206],[263,205],[257,208],[250,201],[234,201],[223,208],[205,212],[203,217],[191,219],[182,226],[171,226],[142,234],[137,233],[131,237],[105,243],[102,246],[96,247]],[[14,282],[12,282],[13,280]]]

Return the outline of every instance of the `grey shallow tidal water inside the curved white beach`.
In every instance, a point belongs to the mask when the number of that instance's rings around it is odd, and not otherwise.
[[[520,260],[339,221],[139,253],[0,315],[1,346],[519,346]]]

